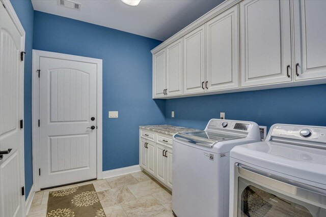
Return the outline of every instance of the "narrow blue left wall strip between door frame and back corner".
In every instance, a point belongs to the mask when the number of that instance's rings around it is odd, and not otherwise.
[[[11,0],[15,12],[25,30],[25,65],[24,65],[24,157],[25,157],[25,192],[26,198],[33,185],[32,165],[32,49],[34,9],[30,0]]]

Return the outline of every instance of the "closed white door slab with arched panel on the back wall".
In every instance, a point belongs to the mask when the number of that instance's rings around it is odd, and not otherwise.
[[[96,178],[96,64],[40,57],[39,115],[40,188]]]

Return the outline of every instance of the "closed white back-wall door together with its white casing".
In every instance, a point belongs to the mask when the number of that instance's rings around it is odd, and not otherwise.
[[[101,179],[102,60],[34,50],[33,71],[35,190]]]

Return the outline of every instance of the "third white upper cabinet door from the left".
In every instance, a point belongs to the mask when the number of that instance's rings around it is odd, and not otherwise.
[[[183,94],[205,92],[205,25],[183,37],[183,55]]]

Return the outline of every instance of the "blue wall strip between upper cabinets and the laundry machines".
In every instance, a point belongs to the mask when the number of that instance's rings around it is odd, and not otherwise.
[[[204,129],[211,118],[326,126],[326,84],[167,100],[166,123]],[[171,111],[175,117],[171,118]]]

